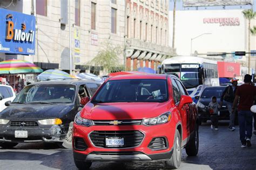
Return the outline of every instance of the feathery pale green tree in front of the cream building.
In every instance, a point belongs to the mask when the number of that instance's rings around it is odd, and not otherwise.
[[[122,46],[114,46],[107,41],[104,43],[104,47],[98,51],[97,56],[93,58],[89,64],[96,67],[103,67],[104,74],[123,70],[123,65],[120,64],[120,58],[118,57],[122,52]]]

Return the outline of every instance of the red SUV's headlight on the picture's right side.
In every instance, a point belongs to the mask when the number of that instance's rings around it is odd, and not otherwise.
[[[156,118],[143,119],[143,125],[151,126],[151,125],[159,125],[165,124],[171,120],[171,112],[166,112],[164,114],[159,115]]]

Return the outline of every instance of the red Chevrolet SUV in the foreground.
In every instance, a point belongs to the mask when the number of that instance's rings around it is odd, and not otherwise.
[[[164,160],[178,168],[181,148],[198,153],[198,113],[181,81],[172,75],[109,78],[78,112],[73,157],[79,169],[93,161]]]

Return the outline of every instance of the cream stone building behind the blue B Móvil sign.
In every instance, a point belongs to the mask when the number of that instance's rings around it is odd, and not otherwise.
[[[33,13],[35,4],[36,45],[34,56],[6,55],[2,60],[19,58],[29,60],[42,69],[70,70],[69,24],[71,24],[72,70],[97,71],[89,66],[106,43],[124,46],[125,43],[125,1],[73,0],[70,1],[71,23],[69,23],[69,1],[55,0],[3,0],[1,8],[26,14]],[[120,55],[124,63],[124,55]],[[87,65],[87,66],[86,66]]]

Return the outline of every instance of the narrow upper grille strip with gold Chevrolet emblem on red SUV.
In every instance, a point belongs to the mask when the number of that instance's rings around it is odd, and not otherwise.
[[[142,120],[93,120],[93,125],[140,125]]]

